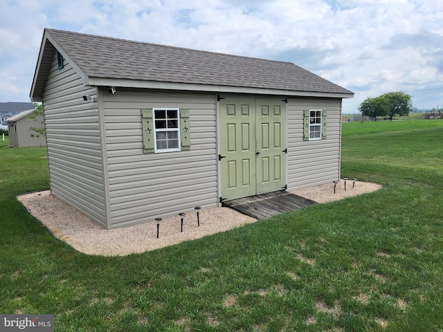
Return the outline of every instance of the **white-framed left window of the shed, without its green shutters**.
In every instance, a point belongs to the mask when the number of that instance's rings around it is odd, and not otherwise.
[[[154,151],[180,151],[179,109],[153,109]]]

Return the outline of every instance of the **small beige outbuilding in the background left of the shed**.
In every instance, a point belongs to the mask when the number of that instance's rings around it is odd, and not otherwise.
[[[29,118],[34,109],[23,111],[8,119],[9,145],[12,147],[44,147],[45,136],[37,137],[38,133],[32,128],[43,128],[43,116],[39,115],[35,120]],[[31,136],[33,135],[33,136]]]

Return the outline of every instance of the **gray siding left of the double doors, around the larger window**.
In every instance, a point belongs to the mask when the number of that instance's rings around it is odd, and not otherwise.
[[[217,206],[215,95],[103,91],[111,228]],[[190,110],[190,151],[143,153],[141,109]]]

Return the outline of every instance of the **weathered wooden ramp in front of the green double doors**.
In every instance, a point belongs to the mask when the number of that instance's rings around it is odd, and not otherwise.
[[[310,199],[305,199],[284,190],[269,192],[243,199],[233,199],[223,202],[223,206],[231,208],[255,219],[264,219],[283,212],[296,210],[305,206],[317,204]]]

